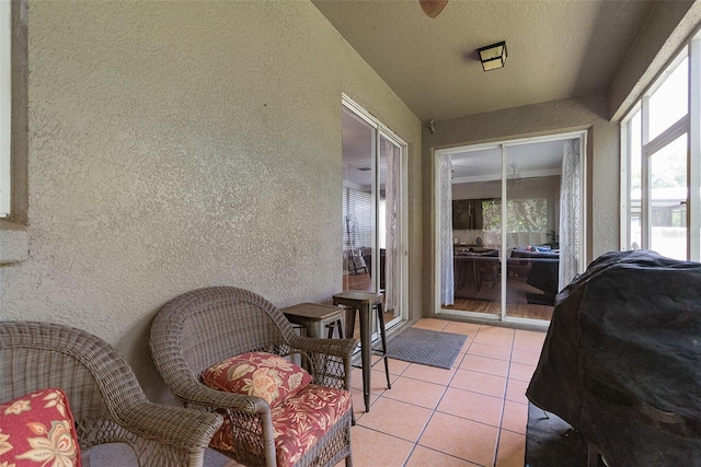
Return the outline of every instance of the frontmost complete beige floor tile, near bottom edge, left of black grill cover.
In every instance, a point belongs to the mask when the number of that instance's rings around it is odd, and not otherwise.
[[[482,466],[494,463],[498,429],[435,412],[418,444]]]

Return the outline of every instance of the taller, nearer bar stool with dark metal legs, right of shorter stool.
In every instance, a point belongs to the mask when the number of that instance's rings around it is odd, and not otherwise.
[[[382,316],[382,299],[381,293],[363,292],[357,290],[348,290],[346,292],[333,295],[334,305],[343,305],[348,308],[346,314],[346,334],[353,336],[355,328],[355,312],[360,315],[360,360],[363,363],[363,396],[365,399],[365,411],[370,411],[370,354],[376,353],[384,360],[384,373],[387,375],[387,388],[391,389],[390,367],[387,360],[387,334],[384,329],[384,318]],[[374,349],[371,342],[370,323],[372,312],[377,311],[378,329],[382,341],[381,349]]]

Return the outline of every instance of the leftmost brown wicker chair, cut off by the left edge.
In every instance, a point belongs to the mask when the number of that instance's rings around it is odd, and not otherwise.
[[[60,387],[81,450],[126,443],[139,466],[199,467],[221,417],[150,402],[134,372],[104,340],[72,327],[0,322],[0,400]]]

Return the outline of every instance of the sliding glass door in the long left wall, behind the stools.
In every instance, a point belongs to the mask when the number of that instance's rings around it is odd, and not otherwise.
[[[344,98],[343,290],[383,293],[388,327],[406,313],[404,179],[405,144]]]

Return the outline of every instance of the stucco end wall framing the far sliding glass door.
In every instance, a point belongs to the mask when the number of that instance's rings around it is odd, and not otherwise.
[[[608,100],[594,94],[434,122],[424,128],[424,315],[435,312],[435,151],[535,136],[587,130],[588,260],[618,249],[619,126],[606,119]]]

